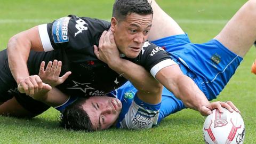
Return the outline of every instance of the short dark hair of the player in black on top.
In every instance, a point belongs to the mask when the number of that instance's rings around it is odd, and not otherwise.
[[[116,0],[113,5],[112,17],[118,21],[126,18],[131,13],[152,14],[153,9],[147,0]]]

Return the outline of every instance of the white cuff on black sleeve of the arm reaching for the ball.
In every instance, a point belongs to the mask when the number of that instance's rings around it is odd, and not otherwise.
[[[151,68],[150,73],[156,78],[156,74],[158,73],[159,70],[172,65],[178,65],[178,64],[171,59],[163,60],[157,63],[153,68]]]

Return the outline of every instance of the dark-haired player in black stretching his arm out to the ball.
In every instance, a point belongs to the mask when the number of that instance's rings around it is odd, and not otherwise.
[[[10,39],[8,53],[6,50],[0,52],[3,68],[0,71],[0,103],[8,99],[10,100],[6,102],[7,104],[19,102],[23,109],[19,107],[9,112],[10,115],[20,117],[33,117],[49,108],[46,105],[42,109],[36,107],[38,102],[29,99],[30,97],[8,97],[8,91],[17,87],[17,84],[30,96],[45,89],[43,86],[51,89],[51,84],[42,82],[38,77],[39,63],[58,59],[63,62],[62,73],[66,73],[65,77],[70,75],[68,71],[73,73],[65,82],[61,79],[63,83],[58,85],[58,89],[68,95],[105,95],[129,79],[139,89],[138,95],[147,94],[149,97],[161,93],[162,85],[158,83],[160,82],[188,108],[198,110],[202,115],[209,115],[212,109],[221,107],[221,103],[210,103],[193,80],[183,75],[179,66],[175,65],[169,54],[161,47],[146,42],[152,19],[153,11],[146,0],[117,0],[110,23],[69,15],[52,23],[22,31]],[[119,55],[116,46],[122,53],[122,58],[113,57],[115,59],[110,61],[100,57],[100,60],[107,63],[97,59],[93,52],[93,46],[99,45],[100,36],[106,34],[105,30],[113,33],[116,54]],[[106,43],[103,39],[99,47],[103,48],[108,44],[111,46],[112,43]],[[111,51],[110,55],[113,52]],[[158,82],[152,77],[145,76],[149,74],[144,68],[150,71]],[[146,99],[145,102],[155,101]],[[6,103],[1,105],[3,109]],[[30,113],[31,111],[33,113]]]

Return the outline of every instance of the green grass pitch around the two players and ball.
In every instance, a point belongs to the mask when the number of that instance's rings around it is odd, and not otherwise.
[[[68,14],[111,18],[110,0],[2,0],[0,4],[0,47],[5,49],[9,38],[41,23],[51,22]],[[159,5],[178,21],[192,42],[209,41],[245,3],[245,0],[158,0]],[[256,31],[255,31],[256,33]],[[246,125],[244,143],[256,138],[256,76],[250,73],[255,59],[253,47],[217,100],[231,100],[242,112]],[[58,111],[50,109],[33,119],[0,117],[0,143],[204,143],[205,117],[185,109],[171,115],[154,129],[131,131],[110,129],[99,132],[67,131],[59,127]]]

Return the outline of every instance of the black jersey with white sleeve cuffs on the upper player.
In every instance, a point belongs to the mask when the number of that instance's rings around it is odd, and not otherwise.
[[[110,23],[107,21],[79,18],[75,15],[39,25],[43,48],[49,52],[34,53],[33,55],[43,56],[31,56],[29,60],[30,62],[41,62],[44,59],[47,59],[46,62],[50,59],[61,60],[62,74],[68,70],[72,72],[69,78],[58,86],[62,92],[79,97],[105,95],[127,81],[122,75],[110,69],[106,63],[97,59],[94,54],[93,45],[99,45],[101,34],[109,28]],[[124,57],[124,59],[128,58]],[[161,47],[149,42],[144,44],[137,58],[128,60],[145,67],[153,75],[161,68],[172,65],[169,55]],[[39,66],[39,63],[37,65]]]

